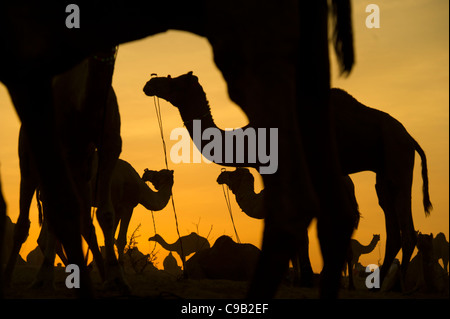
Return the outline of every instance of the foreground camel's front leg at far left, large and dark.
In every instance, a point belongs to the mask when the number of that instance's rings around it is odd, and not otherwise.
[[[56,134],[51,78],[34,77],[28,81],[24,76],[20,83],[7,86],[37,168],[42,199],[47,205],[44,218],[64,246],[69,262],[80,267],[81,286],[76,292],[90,296],[91,283],[81,247],[80,197]]]

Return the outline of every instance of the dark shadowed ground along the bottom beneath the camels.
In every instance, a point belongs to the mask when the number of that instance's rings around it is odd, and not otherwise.
[[[30,283],[37,272],[35,266],[18,266],[14,273],[13,286],[6,290],[7,299],[69,299],[74,298],[73,289],[65,286],[68,275],[64,268],[57,267],[55,271],[54,289],[30,289]],[[242,299],[246,296],[248,283],[230,280],[192,280],[180,279],[163,270],[147,267],[143,273],[137,274],[127,268],[126,278],[132,289],[130,296],[120,295],[118,292],[105,291],[96,270],[91,271],[94,283],[95,297],[113,299]],[[371,292],[364,286],[364,278],[356,277],[356,290],[340,291],[342,299],[442,299],[448,300],[447,295],[433,295],[423,293],[402,294],[400,292]],[[281,285],[277,299],[315,299],[318,298],[318,288],[297,288],[288,282]]]

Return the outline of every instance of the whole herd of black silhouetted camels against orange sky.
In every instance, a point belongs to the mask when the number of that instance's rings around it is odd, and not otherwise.
[[[311,283],[307,228],[316,218],[324,262],[320,297],[336,298],[360,216],[353,185],[349,188],[346,176],[370,170],[377,175],[376,190],[386,220],[381,278],[387,277],[400,249],[399,276],[406,276],[417,242],[410,189],[415,152],[422,160],[424,209],[426,213],[431,209],[426,157],[397,120],[362,105],[343,90],[330,89],[329,38],[342,74],[350,74],[354,64],[349,0],[195,0],[179,6],[149,0],[139,7],[119,0],[108,10],[103,10],[100,1],[83,6],[81,27],[74,29],[61,23],[66,15],[64,2],[0,4],[0,81],[22,123],[20,215],[6,271],[0,271],[1,294],[4,285],[11,284],[20,247],[28,235],[35,191],[42,202],[43,229],[48,229],[43,245],[45,262],[39,271],[42,280],[51,278],[55,251],[62,246],[67,263],[79,266],[76,293],[94,296],[82,235],[104,286],[123,294],[131,292],[121,266],[128,223],[138,204],[149,210],[167,204],[173,172],[146,170],[141,178],[119,159],[120,114],[112,87],[116,46],[169,29],[208,39],[230,98],[247,114],[249,126],[277,129],[278,166],[276,172],[262,175],[265,188],[260,194],[252,194],[248,185],[247,194],[240,193],[232,176],[218,180],[230,186],[239,205],[246,205],[245,210],[242,207],[245,213],[265,219],[261,250],[236,244],[226,236],[212,246],[192,234],[180,238],[179,245],[169,245],[161,236],[151,240],[181,253],[183,259],[196,252],[186,264],[183,260],[188,276],[249,280],[248,297],[272,298],[290,260],[297,264],[300,282]],[[150,12],[158,14],[150,19]],[[150,79],[144,92],[176,106],[191,136],[195,120],[202,122],[203,130],[217,128],[206,95],[192,73]],[[274,105],[279,109],[274,110]],[[200,151],[203,154],[204,149]],[[208,157],[206,153],[203,155]],[[265,163],[235,160],[222,164],[259,169]],[[247,195],[255,199],[253,207],[248,205]],[[92,206],[97,207],[105,238],[104,256],[90,218]],[[0,233],[6,209],[1,196]],[[195,247],[188,250],[191,242]],[[430,255],[429,242],[424,239],[419,247],[427,262],[435,258]],[[183,245],[186,250],[179,251],[177,247]],[[167,261],[170,264],[173,266],[173,260]]]

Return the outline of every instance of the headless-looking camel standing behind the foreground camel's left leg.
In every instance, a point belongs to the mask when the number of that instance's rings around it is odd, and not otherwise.
[[[83,194],[81,233],[89,244],[102,279],[110,283],[122,282],[120,289],[128,290],[123,280],[123,274],[114,262],[116,259],[112,246],[114,241],[109,238],[114,234],[113,225],[109,222],[114,214],[111,210],[111,174],[122,145],[117,99],[111,84],[108,84],[108,79],[110,81],[114,69],[115,54],[115,48],[96,52],[69,71],[54,77],[52,88],[54,103],[57,105],[55,117],[58,124],[56,130],[64,143],[63,151],[68,159],[70,169],[77,173],[74,175],[75,185]],[[103,125],[99,126],[97,123],[100,121],[103,122]],[[99,158],[97,162],[100,164],[98,164],[99,169],[96,175],[90,178],[95,148],[97,148],[96,154]],[[12,278],[11,274],[20,247],[28,236],[29,207],[33,193],[35,189],[42,186],[38,182],[38,172],[35,169],[29,137],[25,134],[23,125],[19,133],[19,159],[21,170],[20,214],[14,234],[14,248],[6,268],[8,284]],[[42,197],[45,214],[49,204],[46,202],[44,193]],[[109,251],[107,274],[105,274],[90,215],[93,200],[97,202],[97,218],[105,235],[105,246]],[[55,238],[52,235],[44,238],[49,243],[41,242],[40,245],[49,249],[44,250],[46,262],[42,264],[38,273],[36,280],[38,285],[42,281],[47,281],[39,277],[51,278],[49,277],[50,272],[53,271],[51,261],[54,260]]]

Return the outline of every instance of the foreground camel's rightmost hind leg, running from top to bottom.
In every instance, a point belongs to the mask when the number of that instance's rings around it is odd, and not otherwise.
[[[302,49],[296,70],[297,114],[308,170],[320,202],[317,230],[324,261],[320,295],[336,298],[354,213],[342,179],[330,118],[327,1],[301,3],[308,10],[301,10],[299,18]]]

